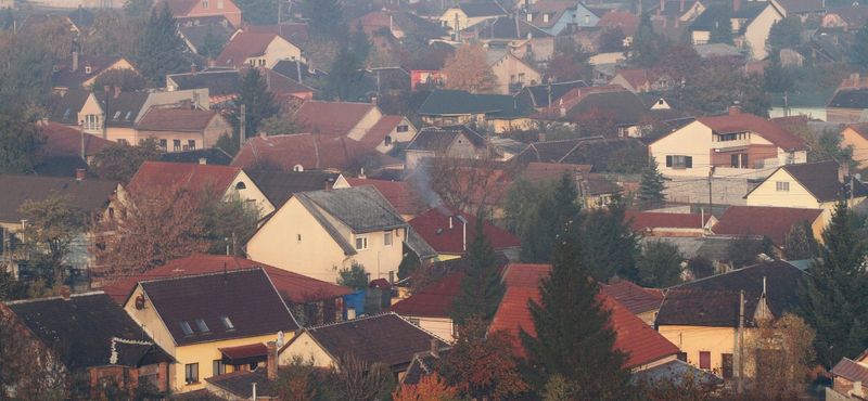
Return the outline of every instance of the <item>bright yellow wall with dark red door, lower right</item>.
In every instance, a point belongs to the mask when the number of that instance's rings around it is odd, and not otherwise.
[[[687,363],[699,367],[699,352],[711,352],[712,371],[720,372],[724,353],[732,353],[736,340],[733,327],[660,326],[658,332],[687,353]]]

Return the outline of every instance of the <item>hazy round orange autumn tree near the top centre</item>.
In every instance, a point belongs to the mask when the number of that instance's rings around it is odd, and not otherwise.
[[[495,93],[497,77],[485,60],[481,46],[464,44],[446,59],[443,66],[446,89],[465,90],[473,93]]]

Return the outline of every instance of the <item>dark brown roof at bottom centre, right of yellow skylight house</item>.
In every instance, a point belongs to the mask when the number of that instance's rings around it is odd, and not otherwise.
[[[354,319],[305,331],[335,359],[354,355],[369,366],[385,363],[393,370],[404,370],[413,355],[448,345],[437,336],[404,320],[395,313]],[[297,337],[296,337],[297,338]]]

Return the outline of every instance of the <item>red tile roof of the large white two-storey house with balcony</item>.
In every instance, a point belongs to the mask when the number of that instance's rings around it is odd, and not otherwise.
[[[807,150],[807,144],[799,135],[788,131],[775,121],[753,114],[739,113],[717,117],[702,117],[700,122],[718,133],[751,131],[758,133],[784,151]]]

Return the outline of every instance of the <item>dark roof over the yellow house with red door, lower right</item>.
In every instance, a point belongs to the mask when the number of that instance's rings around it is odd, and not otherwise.
[[[763,294],[764,281],[768,308],[780,318],[801,306],[799,287],[804,274],[788,262],[773,261],[681,284],[666,292],[656,323],[736,327],[739,292],[745,293],[744,315],[750,320]]]

